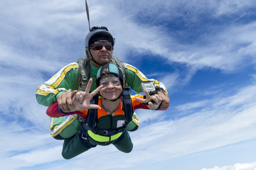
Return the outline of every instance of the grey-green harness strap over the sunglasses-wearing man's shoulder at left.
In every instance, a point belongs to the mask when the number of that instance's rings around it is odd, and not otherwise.
[[[78,60],[78,79],[76,81],[76,89],[78,91],[85,91],[87,83],[90,79],[90,62],[87,60],[86,57],[81,57]]]

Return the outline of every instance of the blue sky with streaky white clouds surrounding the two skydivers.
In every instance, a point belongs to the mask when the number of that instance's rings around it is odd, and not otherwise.
[[[129,154],[110,145],[63,159],[35,92],[84,56],[85,1],[1,0],[1,169],[256,169],[256,1],[87,3],[114,56],[165,84],[169,109],[136,111]]]

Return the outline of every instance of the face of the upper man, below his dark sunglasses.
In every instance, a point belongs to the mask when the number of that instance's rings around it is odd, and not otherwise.
[[[102,42],[107,42],[107,41],[102,40]],[[107,50],[105,46],[103,46],[101,50],[90,49],[90,52],[94,60],[102,65],[110,63],[110,60],[112,59],[112,55],[113,55],[113,50]]]

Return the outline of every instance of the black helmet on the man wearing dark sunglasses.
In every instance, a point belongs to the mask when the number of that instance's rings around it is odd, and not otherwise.
[[[90,54],[89,45],[96,42],[97,40],[109,40],[112,42],[112,45],[114,47],[114,38],[110,34],[110,32],[107,30],[107,27],[92,27],[90,29],[90,32],[86,35],[85,38],[85,55],[88,59],[92,59],[92,55]]]

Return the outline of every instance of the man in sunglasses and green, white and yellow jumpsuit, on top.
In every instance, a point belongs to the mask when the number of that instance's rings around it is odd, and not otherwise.
[[[50,106],[58,102],[58,106],[64,113],[72,111],[73,96],[78,91],[84,91],[87,81],[92,78],[90,92],[97,89],[96,74],[104,64],[121,65],[125,74],[126,85],[137,93],[142,92],[140,86],[143,81],[151,81],[156,87],[156,93],[161,98],[159,110],[169,108],[169,96],[166,87],[156,79],[147,79],[136,67],[122,63],[117,57],[113,57],[114,38],[106,27],[92,27],[85,38],[85,57],[78,62],[73,62],[58,71],[48,81],[44,82],[36,90],[36,100],[43,106]],[[54,118],[55,120],[58,118]],[[58,120],[56,120],[58,122]],[[54,120],[52,120],[52,123]],[[127,130],[137,130],[139,118],[134,113],[133,120]],[[65,138],[65,137],[64,137]]]

